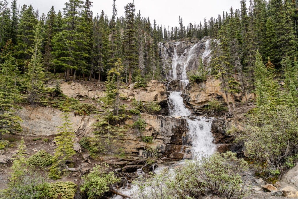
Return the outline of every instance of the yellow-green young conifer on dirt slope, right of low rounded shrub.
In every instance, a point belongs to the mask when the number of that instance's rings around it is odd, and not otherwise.
[[[67,161],[70,161],[71,157],[75,155],[75,150],[73,149],[75,133],[73,132],[68,112],[64,112],[61,118],[63,123],[58,127],[58,134],[54,139],[57,147],[53,157],[54,163],[49,173],[49,177],[52,179],[61,178],[61,175],[67,169]]]

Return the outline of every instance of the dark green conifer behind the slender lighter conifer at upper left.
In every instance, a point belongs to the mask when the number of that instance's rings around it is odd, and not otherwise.
[[[34,26],[38,23],[32,5],[22,7],[20,23],[18,24],[17,46],[15,58],[21,69],[25,67],[25,60],[30,59],[30,47],[34,42]]]

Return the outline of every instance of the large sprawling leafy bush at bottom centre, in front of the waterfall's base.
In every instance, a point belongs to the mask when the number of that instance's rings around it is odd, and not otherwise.
[[[182,167],[169,172],[164,169],[160,174],[137,183],[139,190],[133,198],[201,198],[216,195],[220,198],[243,198],[245,196],[242,175],[248,169],[243,159],[235,153],[214,153],[195,161],[187,161]]]

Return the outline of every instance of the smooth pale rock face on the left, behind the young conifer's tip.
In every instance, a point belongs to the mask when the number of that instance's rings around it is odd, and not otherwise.
[[[22,107],[18,115],[22,118],[20,122],[23,128],[22,135],[55,135],[57,127],[62,124],[62,111],[51,107]],[[92,124],[95,119],[91,116],[69,115],[73,129],[78,134],[80,132],[89,133],[92,131]]]

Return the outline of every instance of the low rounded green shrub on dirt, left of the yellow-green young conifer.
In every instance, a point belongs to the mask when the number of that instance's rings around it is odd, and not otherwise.
[[[30,165],[45,167],[53,163],[53,156],[47,153],[45,150],[40,150],[28,158],[27,162]]]

